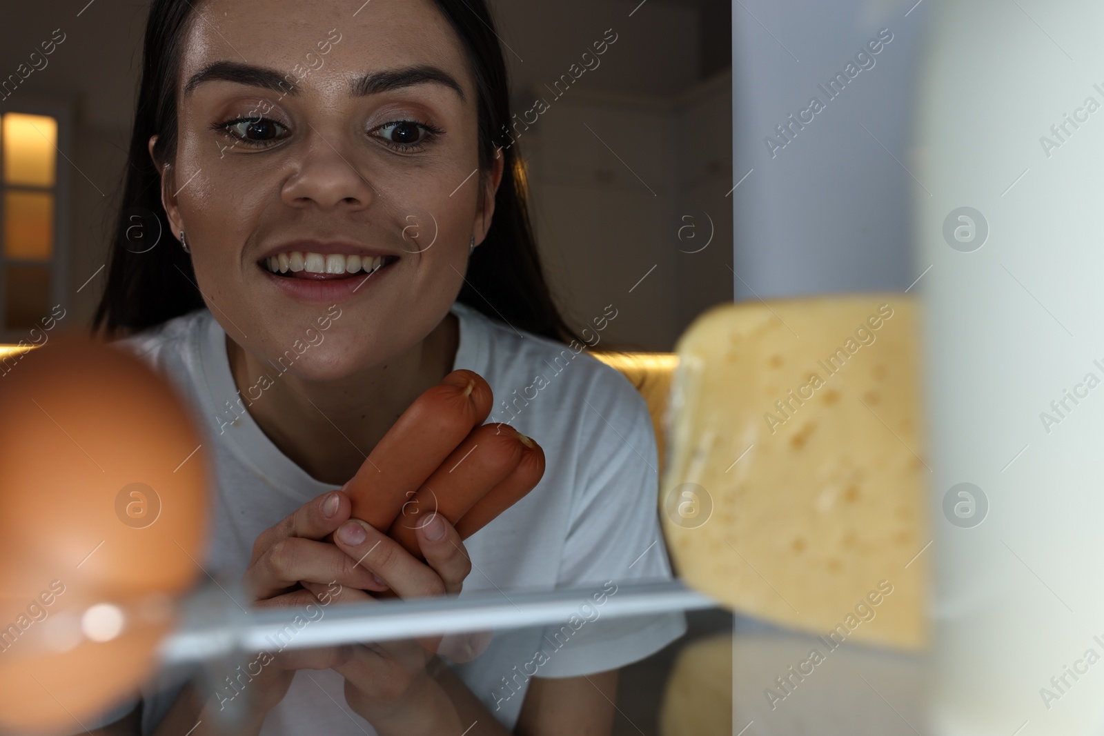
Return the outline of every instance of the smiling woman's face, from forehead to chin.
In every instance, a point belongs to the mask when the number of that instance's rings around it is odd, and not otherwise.
[[[195,4],[162,200],[215,319],[310,380],[406,352],[493,206],[459,39],[428,0]]]

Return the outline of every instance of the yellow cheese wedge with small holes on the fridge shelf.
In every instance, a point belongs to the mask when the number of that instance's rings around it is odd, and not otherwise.
[[[826,641],[925,640],[917,307],[726,305],[678,344],[660,516],[686,583]]]

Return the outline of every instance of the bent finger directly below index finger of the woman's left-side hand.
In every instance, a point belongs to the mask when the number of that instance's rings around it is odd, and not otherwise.
[[[300,582],[330,580],[351,588],[382,591],[372,573],[355,559],[327,542],[298,536],[276,540],[245,572],[242,584],[256,600],[272,598],[296,587]]]

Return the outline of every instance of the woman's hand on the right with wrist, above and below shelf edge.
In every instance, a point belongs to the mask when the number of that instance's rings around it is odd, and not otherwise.
[[[434,513],[417,526],[417,540],[425,563],[401,544],[367,522],[351,519],[340,524],[333,542],[341,554],[365,574],[382,579],[402,598],[456,595],[471,570],[471,561],[460,536],[442,515]],[[321,595],[323,587],[304,584]],[[372,600],[346,586],[335,600]],[[285,594],[287,595],[287,594]],[[485,638],[484,638],[485,639]],[[440,734],[464,730],[447,693],[433,674],[444,666],[435,655],[440,637],[417,641],[353,644],[350,657],[333,670],[346,678],[346,701],[381,734]],[[478,654],[479,638],[447,637],[449,657],[458,661]]]

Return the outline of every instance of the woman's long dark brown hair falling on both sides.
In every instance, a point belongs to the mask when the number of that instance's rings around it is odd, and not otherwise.
[[[510,103],[495,21],[485,0],[434,3],[459,36],[476,82],[484,175],[491,169],[497,146],[502,146],[506,158],[490,230],[471,256],[457,300],[520,330],[566,342],[574,334],[544,279],[526,204],[524,164],[500,135],[510,120]],[[158,160],[171,160],[176,152],[180,46],[197,12],[194,4],[190,0],[150,4],[123,201],[108,256],[107,285],[92,323],[94,331],[103,330],[108,337],[124,337],[204,306],[194,286],[191,259],[182,248],[166,244],[137,248],[134,238],[136,226],[160,233],[162,242],[171,243],[174,237],[148,145],[150,137],[158,136]]]

